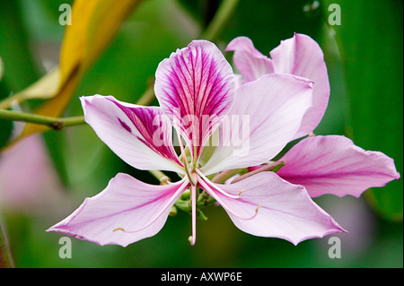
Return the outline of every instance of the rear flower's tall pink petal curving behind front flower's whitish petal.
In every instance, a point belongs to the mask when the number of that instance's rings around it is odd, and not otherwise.
[[[312,108],[303,118],[294,138],[302,137],[317,127],[329,103],[329,75],[322,50],[315,40],[303,34],[294,34],[270,53],[275,73],[294,74],[312,80]]]

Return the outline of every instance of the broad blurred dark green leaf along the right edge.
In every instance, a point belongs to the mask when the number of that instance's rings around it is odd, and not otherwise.
[[[339,4],[341,25],[334,25],[346,71],[349,97],[347,135],[365,150],[380,151],[403,169],[402,1],[325,1]],[[331,87],[332,89],[332,87]],[[403,183],[365,193],[374,210],[402,220]]]

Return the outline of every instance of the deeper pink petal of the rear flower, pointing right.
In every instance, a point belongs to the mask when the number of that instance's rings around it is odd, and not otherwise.
[[[277,174],[292,184],[303,185],[312,197],[357,197],[370,187],[385,186],[400,178],[390,157],[364,151],[338,135],[305,138],[281,160],[285,166]]]

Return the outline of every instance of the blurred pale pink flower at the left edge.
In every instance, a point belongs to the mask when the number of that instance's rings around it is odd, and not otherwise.
[[[40,135],[31,135],[0,154],[0,208],[6,212],[44,212],[67,202]]]

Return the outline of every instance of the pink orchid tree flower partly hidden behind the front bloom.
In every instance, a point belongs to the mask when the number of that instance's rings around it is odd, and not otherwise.
[[[312,107],[304,115],[294,139],[312,134],[329,101],[327,66],[320,46],[312,38],[295,33],[293,38],[281,41],[269,53],[270,57],[254,48],[247,37],[233,39],[225,50],[234,52],[233,63],[242,74],[242,84],[268,74],[294,74],[312,80]],[[364,151],[339,135],[309,135],[296,143],[278,163],[250,167],[250,174],[242,178],[273,166],[279,166],[277,175],[280,178],[304,186],[312,197],[324,194],[358,197],[370,187],[385,186],[400,178],[394,160],[382,152]]]

